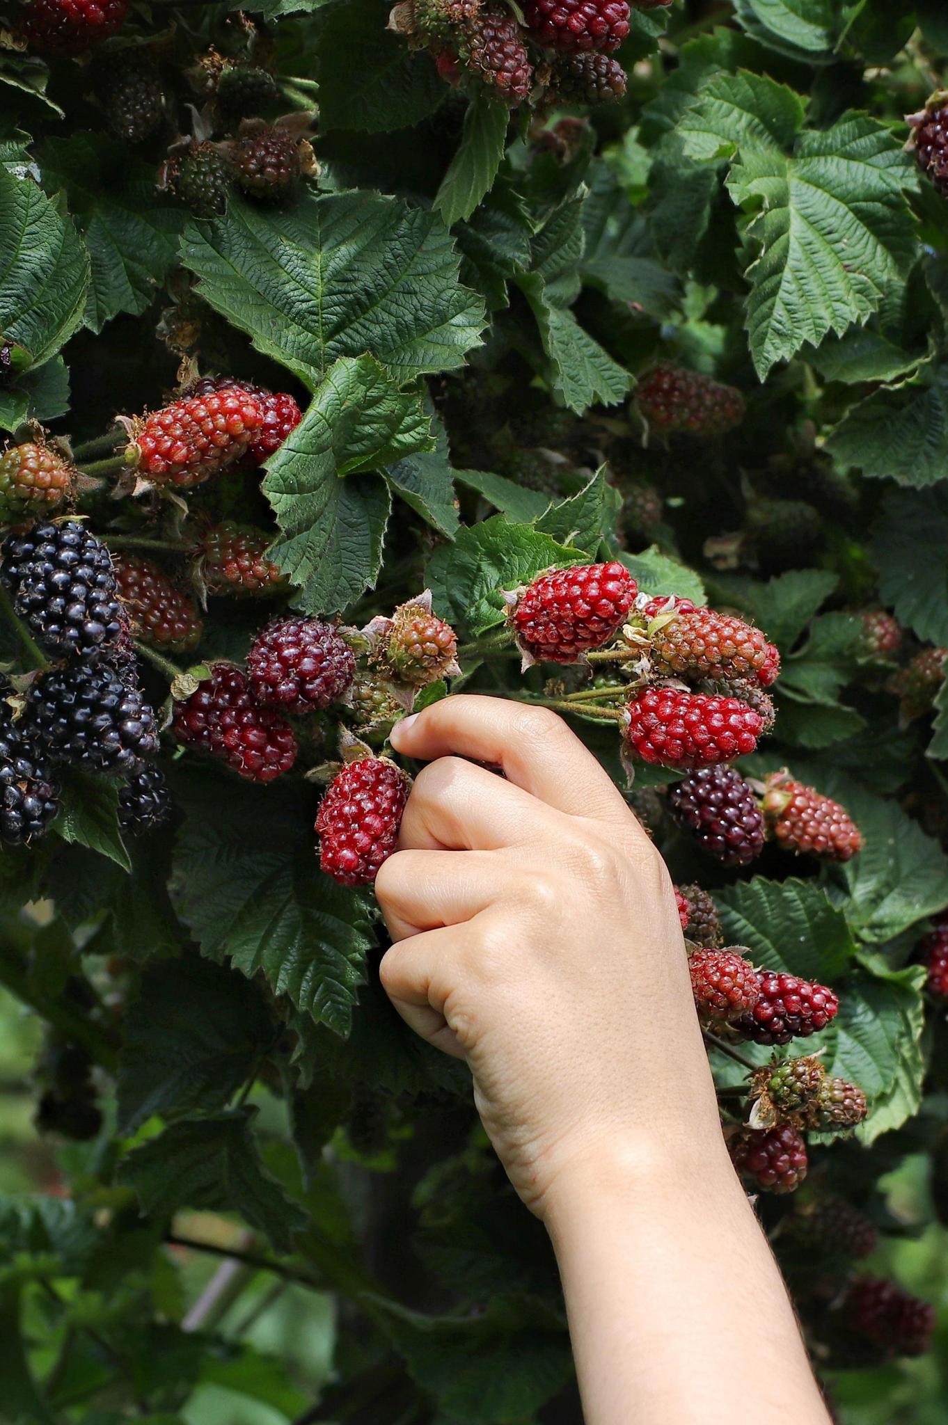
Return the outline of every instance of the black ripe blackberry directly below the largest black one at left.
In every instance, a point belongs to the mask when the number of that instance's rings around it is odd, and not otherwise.
[[[110,667],[80,663],[37,678],[27,725],[53,757],[90,772],[137,777],[158,751],[154,712]]]

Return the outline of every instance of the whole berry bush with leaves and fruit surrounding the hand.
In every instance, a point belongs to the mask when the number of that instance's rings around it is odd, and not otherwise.
[[[667,862],[843,1425],[944,1419],[941,7],[0,10],[4,1406],[577,1419],[379,980],[463,688]]]

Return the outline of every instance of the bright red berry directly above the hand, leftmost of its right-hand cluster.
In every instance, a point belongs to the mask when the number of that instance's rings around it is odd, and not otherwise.
[[[540,574],[517,598],[510,621],[525,653],[577,663],[619,631],[639,586],[619,563],[580,564]]]

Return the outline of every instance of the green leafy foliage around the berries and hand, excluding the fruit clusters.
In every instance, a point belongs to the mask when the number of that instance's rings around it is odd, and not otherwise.
[[[84,440],[155,408],[187,314],[201,369],[305,406],[262,489],[217,510],[268,522],[294,607],[365,623],[429,587],[476,640],[502,589],[620,554],[651,593],[751,616],[784,673],[746,770],[787,764],[838,797],[865,849],[818,872],[768,852],[736,878],[661,846],[757,963],[840,990],[811,1046],[871,1113],[814,1147],[813,1177],[882,1228],[872,1270],[944,1305],[948,1186],[928,1168],[947,1040],[912,955],[948,903],[948,694],[900,725],[852,616],[881,603],[911,647],[948,646],[948,205],[904,152],[904,114],[948,74],[942,6],[633,11],[627,98],[559,147],[445,86],[386,9],[248,7],[284,107],[318,111],[321,172],[285,207],[234,197],[210,221],[155,190],[160,151],[104,135],[83,66],[0,48],[21,115],[0,130],[0,332],[26,352],[0,426]],[[227,6],[143,3],[121,44],[160,37],[184,127],[184,68],[239,34]],[[657,358],[738,386],[743,428],[643,442],[634,385]],[[579,475],[550,500],[490,436],[563,412]],[[616,473],[663,494],[654,542],[623,533]],[[820,494],[830,473],[844,509]],[[803,557],[724,539],[760,493],[817,504]],[[145,529],[128,506],[94,507],[96,529]],[[195,657],[241,657],[269,611],[212,604]],[[469,660],[465,685],[542,681]],[[614,740],[577,725],[619,778]],[[76,778],[57,835],[0,859],[0,1419],[576,1421],[545,1237],[465,1070],[389,1010],[371,895],[318,872],[312,784],[247,787],[191,757],[168,775],[174,834],[124,844],[114,788]],[[43,1025],[97,1064],[90,1143],[30,1126]],[[781,1251],[783,1208],[766,1211]],[[827,1358],[845,1425],[942,1421],[947,1331],[911,1364]]]

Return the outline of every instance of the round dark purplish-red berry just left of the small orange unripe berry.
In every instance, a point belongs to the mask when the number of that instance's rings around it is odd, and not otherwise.
[[[355,657],[332,624],[318,618],[275,618],[247,656],[254,694],[264,707],[314,712],[352,687]]]

